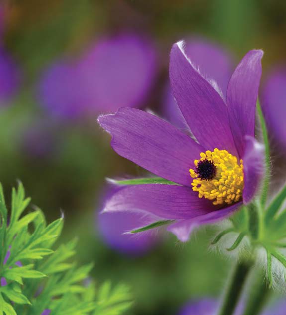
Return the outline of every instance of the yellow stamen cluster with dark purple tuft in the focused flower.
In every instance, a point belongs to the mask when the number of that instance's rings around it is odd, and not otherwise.
[[[243,162],[226,150],[201,152],[190,169],[192,190],[199,198],[214,200],[214,205],[232,204],[242,197]]]

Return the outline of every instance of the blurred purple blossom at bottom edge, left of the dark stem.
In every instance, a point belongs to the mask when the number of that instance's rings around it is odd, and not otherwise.
[[[202,299],[186,304],[178,315],[215,315],[218,302],[215,299]]]

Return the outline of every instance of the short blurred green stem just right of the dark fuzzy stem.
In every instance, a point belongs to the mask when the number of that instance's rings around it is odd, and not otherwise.
[[[259,315],[263,310],[270,294],[269,285],[263,281],[263,278],[263,275],[259,273],[252,291],[248,295],[249,299],[243,315]]]

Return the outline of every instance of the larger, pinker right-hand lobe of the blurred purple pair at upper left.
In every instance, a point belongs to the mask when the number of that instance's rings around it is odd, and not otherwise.
[[[106,113],[144,105],[157,72],[156,59],[152,43],[137,34],[101,39],[80,65],[90,106]]]

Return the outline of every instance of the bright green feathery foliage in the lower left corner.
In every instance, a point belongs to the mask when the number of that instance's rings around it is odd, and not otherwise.
[[[24,187],[12,190],[8,212],[0,184],[0,315],[120,315],[131,305],[126,286],[96,288],[92,264],[71,262],[76,240],[53,249],[63,218],[46,223]],[[23,215],[23,212],[25,214]]]

